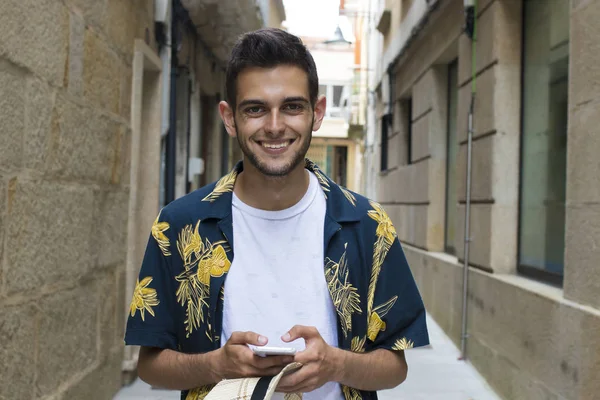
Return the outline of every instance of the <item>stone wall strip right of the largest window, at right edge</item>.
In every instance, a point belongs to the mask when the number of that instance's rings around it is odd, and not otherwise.
[[[572,2],[564,288],[569,299],[600,309],[598,18],[599,2]]]

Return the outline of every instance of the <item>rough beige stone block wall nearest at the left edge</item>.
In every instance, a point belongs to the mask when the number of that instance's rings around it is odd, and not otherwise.
[[[121,386],[131,64],[153,12],[0,3],[0,398]]]

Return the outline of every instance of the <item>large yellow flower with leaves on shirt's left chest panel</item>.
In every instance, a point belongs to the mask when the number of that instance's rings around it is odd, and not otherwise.
[[[220,277],[229,271],[227,243],[204,242],[199,233],[200,221],[192,228],[186,225],[177,239],[177,250],[183,260],[184,270],[175,277],[179,287],[175,293],[177,302],[186,307],[185,331],[189,337],[204,322],[204,310],[208,307],[210,278]],[[212,340],[211,326],[206,326],[207,337]]]

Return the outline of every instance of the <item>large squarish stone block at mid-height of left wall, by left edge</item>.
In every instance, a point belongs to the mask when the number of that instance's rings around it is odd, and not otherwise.
[[[4,270],[8,294],[88,273],[93,267],[93,192],[21,178],[11,186]]]

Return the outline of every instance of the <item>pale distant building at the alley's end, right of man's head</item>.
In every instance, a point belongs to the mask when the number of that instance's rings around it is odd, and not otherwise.
[[[356,3],[356,4],[354,4]],[[319,74],[319,95],[327,98],[321,128],[313,133],[307,157],[338,184],[362,191],[364,117],[359,2],[341,2],[337,28],[328,37],[303,37]],[[293,33],[293,32],[292,32]],[[364,105],[366,107],[366,104]]]

